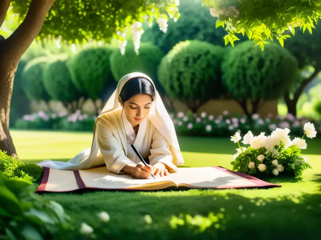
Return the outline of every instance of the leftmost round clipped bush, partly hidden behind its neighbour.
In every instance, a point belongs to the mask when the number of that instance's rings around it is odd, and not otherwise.
[[[50,96],[43,84],[44,68],[48,57],[39,57],[30,60],[22,71],[22,89],[30,100],[48,102]]]

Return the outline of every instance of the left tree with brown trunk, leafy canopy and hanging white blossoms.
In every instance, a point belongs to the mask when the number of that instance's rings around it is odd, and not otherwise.
[[[139,49],[140,22],[159,19],[164,28],[169,17],[179,18],[175,0],[106,1],[82,0],[2,0],[0,27],[7,12],[19,14],[20,25],[4,39],[0,37],[0,149],[18,157],[9,132],[10,101],[14,74],[19,60],[33,40],[60,37],[68,43],[82,43],[88,39],[110,41],[115,36],[124,52],[124,32],[132,27],[135,47]],[[9,9],[9,7],[12,8]],[[49,11],[50,10],[50,11]],[[169,14],[169,17],[167,15]],[[7,16],[8,17],[8,16]],[[116,32],[115,32],[116,29]]]

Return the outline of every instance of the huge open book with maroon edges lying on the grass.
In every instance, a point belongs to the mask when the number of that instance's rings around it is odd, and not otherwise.
[[[45,168],[37,192],[69,192],[79,189],[160,190],[166,188],[262,188],[281,187],[250,175],[222,167],[178,168],[169,176],[134,179],[127,174],[108,172],[106,166],[88,170]]]

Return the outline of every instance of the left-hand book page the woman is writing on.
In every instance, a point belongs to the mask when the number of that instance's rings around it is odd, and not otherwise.
[[[106,167],[99,167],[89,170],[79,170],[79,175],[87,188],[137,188],[144,185],[162,185],[163,182],[168,181],[162,177],[149,177],[148,179],[134,179],[127,174],[115,174],[108,172]],[[166,185],[169,185],[168,183]],[[174,183],[170,184],[175,186]]]

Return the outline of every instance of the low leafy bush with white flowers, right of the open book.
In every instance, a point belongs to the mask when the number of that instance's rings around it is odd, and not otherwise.
[[[301,149],[307,148],[304,137],[312,139],[317,135],[314,124],[310,122],[304,124],[303,129],[303,137],[295,137],[293,140],[290,139],[288,128],[277,128],[269,136],[264,132],[254,136],[248,131],[242,141],[248,147],[240,145],[242,137],[236,132],[231,136],[231,141],[239,146],[231,162],[233,170],[258,177],[279,174],[300,177],[305,169],[312,168],[308,158],[301,155]]]

